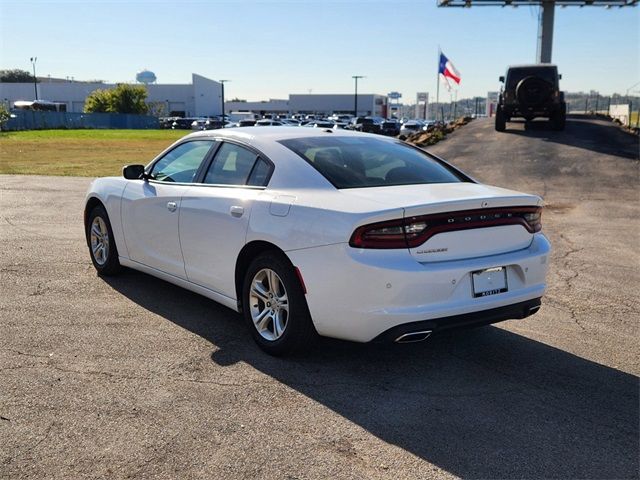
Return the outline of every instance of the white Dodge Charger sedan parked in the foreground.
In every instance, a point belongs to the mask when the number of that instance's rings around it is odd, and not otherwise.
[[[282,355],[318,334],[412,342],[535,313],[541,205],[395,139],[236,128],[95,180],[84,221],[99,274],[126,266],[200,293]]]

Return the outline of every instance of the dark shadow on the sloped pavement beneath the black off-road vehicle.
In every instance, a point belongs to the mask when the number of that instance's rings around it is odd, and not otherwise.
[[[566,128],[558,132],[551,129],[549,122],[507,123],[505,133],[540,138],[546,142],[560,143],[615,157],[638,160],[639,137],[626,133],[608,120],[593,121],[594,117],[574,116],[567,118]],[[514,128],[514,124],[519,124]],[[509,128],[511,127],[511,128]]]

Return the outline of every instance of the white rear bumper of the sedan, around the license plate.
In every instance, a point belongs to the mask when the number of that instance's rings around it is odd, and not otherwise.
[[[300,270],[318,333],[369,342],[399,325],[437,319],[442,329],[456,322],[453,317],[539,299],[546,289],[550,245],[538,233],[522,250],[431,263],[416,261],[408,250],[347,244],[286,253]],[[471,273],[498,266],[506,267],[508,291],[474,297]],[[522,318],[516,313],[511,318]]]

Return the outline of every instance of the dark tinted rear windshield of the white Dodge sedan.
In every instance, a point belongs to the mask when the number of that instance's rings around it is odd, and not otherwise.
[[[281,140],[336,188],[466,181],[426,153],[400,142],[366,137]]]

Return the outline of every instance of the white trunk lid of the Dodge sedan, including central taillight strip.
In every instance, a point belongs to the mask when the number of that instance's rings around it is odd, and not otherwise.
[[[419,262],[526,248],[535,229],[525,215],[533,215],[542,203],[535,195],[475,183],[358,189],[348,195],[403,208],[409,251]]]

